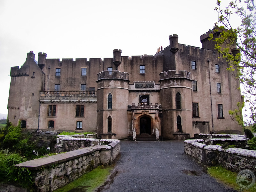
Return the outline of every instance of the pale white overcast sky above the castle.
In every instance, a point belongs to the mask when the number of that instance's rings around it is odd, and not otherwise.
[[[0,0],[0,113],[7,114],[10,68],[27,53],[47,58],[154,55],[169,44],[202,47],[200,35],[218,21],[217,0]],[[222,5],[229,0],[221,1]]]

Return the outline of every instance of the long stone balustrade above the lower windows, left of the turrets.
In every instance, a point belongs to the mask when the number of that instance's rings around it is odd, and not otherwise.
[[[40,99],[97,99],[97,91],[41,91]]]

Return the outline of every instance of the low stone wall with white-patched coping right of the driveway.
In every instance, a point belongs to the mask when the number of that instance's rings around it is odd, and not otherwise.
[[[204,135],[204,137],[209,138],[207,135]],[[225,140],[228,142],[230,139],[232,140],[232,136],[231,138],[227,138]],[[247,138],[244,139],[249,140]],[[211,139],[206,140],[209,142]],[[232,142],[234,143],[237,140],[239,140],[238,135],[233,138]],[[221,165],[226,169],[237,173],[244,169],[256,172],[256,151],[241,148],[222,149],[222,146],[206,145],[204,142],[205,141],[203,139],[185,140],[185,154],[208,166]]]

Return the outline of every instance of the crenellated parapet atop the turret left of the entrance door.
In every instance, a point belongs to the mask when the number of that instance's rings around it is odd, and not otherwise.
[[[111,74],[109,74],[109,71],[101,71],[98,75],[98,80],[101,79],[122,79],[129,81],[129,74],[126,72],[121,71],[112,71]]]

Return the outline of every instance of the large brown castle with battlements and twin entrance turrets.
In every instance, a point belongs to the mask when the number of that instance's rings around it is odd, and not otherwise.
[[[11,67],[8,118],[22,128],[97,132],[124,139],[136,131],[160,138],[188,139],[194,133],[242,129],[228,111],[243,99],[240,83],[214,51],[209,30],[202,47],[170,44],[157,53],[113,58],[46,59],[30,51],[21,67]],[[236,52],[236,49],[233,49]],[[233,53],[234,53],[233,52]],[[235,73],[235,72],[234,72]]]

